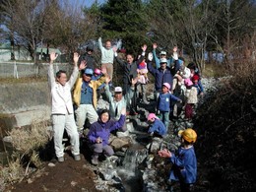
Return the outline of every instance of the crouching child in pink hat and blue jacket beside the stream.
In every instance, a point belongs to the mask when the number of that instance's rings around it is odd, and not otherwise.
[[[150,113],[148,116],[148,121],[151,124],[148,132],[152,136],[164,137],[166,135],[166,128],[156,114]]]

